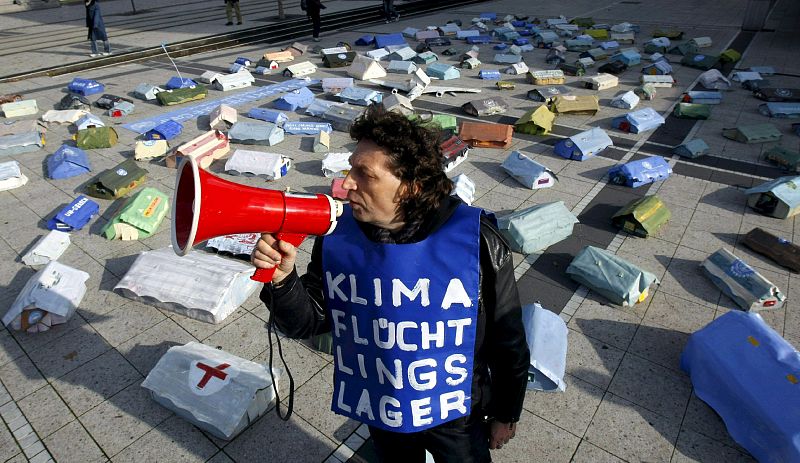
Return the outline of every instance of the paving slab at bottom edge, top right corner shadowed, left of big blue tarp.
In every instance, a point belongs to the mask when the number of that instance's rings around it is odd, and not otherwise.
[[[606,394],[585,439],[623,460],[668,462],[680,421],[672,421],[613,394]]]

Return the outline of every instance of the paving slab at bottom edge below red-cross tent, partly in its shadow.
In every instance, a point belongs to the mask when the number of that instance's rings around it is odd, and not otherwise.
[[[173,416],[126,447],[112,461],[203,462],[217,451],[200,430]]]

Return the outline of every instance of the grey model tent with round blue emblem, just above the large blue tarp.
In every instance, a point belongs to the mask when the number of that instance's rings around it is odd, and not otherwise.
[[[708,256],[701,267],[726,296],[748,312],[780,309],[786,301],[777,286],[725,248]]]

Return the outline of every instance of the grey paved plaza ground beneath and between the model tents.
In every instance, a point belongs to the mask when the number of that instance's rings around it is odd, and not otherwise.
[[[141,5],[139,5],[141,3]],[[137,2],[142,15],[152,21],[130,23],[125,15],[129,3],[123,0],[103,3],[115,50],[157,46],[161,42],[202,37],[229,31],[224,26],[224,5],[208,7],[205,2],[159,6],[159,2]],[[379,2],[330,0],[330,11],[379,6]],[[297,2],[286,2],[287,13],[301,14]],[[403,5],[404,2],[398,2]],[[712,52],[730,44],[740,48],[742,61],[737,69],[773,66],[776,85],[800,87],[800,4],[779,0],[763,31],[744,33],[741,24],[746,0],[695,2],[687,0],[572,0],[564,2],[520,2],[493,0],[453,7],[445,12],[402,17],[400,22],[362,24],[322,34],[321,45],[339,41],[355,43],[367,33],[399,32],[413,26],[424,28],[460,19],[464,25],[482,12],[552,18],[592,17],[596,22],[637,24],[636,46],[640,49],[651,32],[671,27],[683,30],[687,38],[708,36]],[[240,27],[269,27],[275,15],[272,2],[242,0],[245,24]],[[146,11],[145,11],[146,10]],[[179,11],[196,10],[195,27],[146,30],[142,24],[169,17]],[[14,41],[13,63],[3,71],[11,75],[56,64],[88,60],[83,6],[70,5],[37,12],[0,16],[3,40]],[[128,21],[126,23],[126,21]],[[203,22],[205,21],[205,22]],[[127,25],[126,25],[127,24]],[[48,39],[61,31],[64,39]],[[82,36],[82,37],[81,37]],[[41,41],[37,41],[39,37]],[[300,41],[313,45],[309,36]],[[456,42],[454,40],[454,42]],[[416,41],[410,40],[416,45]],[[266,51],[283,44],[243,45],[175,60],[184,77],[197,77],[207,70],[225,72],[238,56],[258,59]],[[459,49],[464,44],[454,43]],[[494,51],[483,45],[483,68],[491,64]],[[368,47],[354,47],[367,51]],[[434,51],[441,51],[436,48]],[[3,54],[3,51],[0,51]],[[531,69],[549,69],[546,50],[524,54]],[[576,53],[568,53],[576,57]],[[312,77],[344,77],[344,69],[322,67],[318,55],[310,61],[320,65]],[[456,57],[440,59],[456,64]],[[675,58],[671,56],[670,58]],[[4,60],[10,61],[10,60]],[[569,60],[571,61],[571,59]],[[701,71],[674,62],[674,88],[659,88],[652,101],[642,101],[665,115],[671,114],[678,97],[692,88]],[[4,66],[6,63],[4,62]],[[746,462],[746,450],[728,435],[714,411],[693,393],[689,377],[680,370],[680,354],[689,335],[729,310],[739,310],[701,272],[699,264],[721,247],[747,261],[788,297],[784,308],[763,312],[767,323],[795,346],[800,346],[800,277],[779,267],[741,244],[744,234],[761,227],[786,239],[800,240],[800,225],[795,219],[768,218],[746,207],[744,189],[771,178],[788,175],[766,162],[763,152],[771,144],[742,144],[721,136],[722,128],[770,122],[783,134],[780,144],[797,150],[798,136],[791,131],[792,120],[768,119],[759,114],[761,103],[750,92],[734,84],[725,92],[722,104],[712,109],[706,121],[670,120],[668,127],[644,134],[626,134],[611,129],[611,119],[627,111],[611,107],[611,98],[638,85],[640,66],[620,75],[617,88],[599,93],[583,88],[578,78],[570,77],[567,86],[573,94],[598,94],[601,110],[594,116],[562,115],[556,119],[554,134],[537,137],[515,134],[509,149],[476,148],[469,158],[449,175],[466,174],[476,185],[474,205],[498,215],[532,205],[563,201],[581,221],[573,237],[533,255],[514,255],[515,271],[523,304],[540,301],[560,314],[569,328],[567,388],[565,392],[527,392],[517,436],[502,450],[492,453],[497,462]],[[176,75],[165,57],[93,69],[79,74],[105,84],[105,93],[132,97],[140,83],[160,85]],[[512,123],[537,106],[526,98],[534,86],[524,76],[509,76],[516,84],[511,91],[498,90],[494,82],[478,79],[478,70],[461,70],[454,86],[474,87],[481,95],[502,96],[510,103],[502,116],[482,118]],[[20,93],[34,98],[40,113],[54,108],[76,75],[36,77],[0,84],[0,94]],[[2,76],[0,76],[2,77]],[[389,74],[389,78],[399,75]],[[256,76],[257,86],[288,80],[278,73]],[[367,83],[358,82],[358,85]],[[310,87],[321,96],[319,87]],[[375,87],[377,88],[377,87]],[[242,89],[223,93],[209,89],[207,100],[215,100]],[[252,107],[271,108],[280,95],[242,104],[240,114]],[[92,97],[94,98],[94,97]],[[413,102],[420,112],[471,117],[460,106],[474,95],[456,94],[437,98],[425,95]],[[333,99],[332,97],[330,99]],[[136,122],[171,111],[154,101],[134,99],[135,112],[119,124]],[[189,105],[194,104],[190,103]],[[101,110],[94,110],[100,115]],[[317,120],[297,111],[291,120]],[[37,116],[37,117],[38,117]],[[112,122],[101,116],[107,124]],[[32,118],[32,116],[27,116]],[[796,122],[796,120],[795,120]],[[207,130],[200,118],[184,123],[184,131],[171,146],[177,146]],[[678,124],[678,125],[675,125]],[[680,125],[683,124],[683,125]],[[602,127],[612,136],[614,147],[584,162],[570,161],[553,153],[553,144],[564,136],[591,127]],[[116,128],[119,143],[112,148],[90,151],[92,171],[101,172],[133,156],[138,134]],[[72,140],[72,125],[50,124],[47,144],[42,150],[12,156],[29,178],[27,185],[0,192],[0,314],[6,312],[37,268],[24,265],[21,256],[47,233],[46,221],[77,195],[86,193],[90,177],[51,180],[45,176],[45,157],[62,143]],[[690,138],[702,138],[710,146],[705,158],[691,161],[672,155],[672,147]],[[235,148],[232,145],[232,149]],[[354,143],[343,132],[334,132],[331,151],[351,151]],[[237,182],[296,192],[330,191],[331,179],[322,175],[322,155],[312,152],[312,137],[286,136],[286,140],[267,149],[293,159],[289,174],[266,182],[257,177],[232,177],[224,173],[224,162],[217,161],[210,171]],[[500,163],[511,150],[517,150],[544,164],[558,176],[552,188],[530,190],[511,178]],[[266,151],[266,150],[265,150]],[[665,181],[637,189],[608,184],[606,172],[616,164],[649,156],[665,156],[674,173]],[[0,159],[5,161],[7,159]],[[140,163],[147,169],[146,186],[172,194],[175,170],[163,161]],[[672,211],[670,222],[655,236],[637,238],[617,233],[611,214],[631,199],[657,194]],[[132,301],[114,291],[139,253],[170,244],[170,221],[159,232],[139,241],[108,241],[99,231],[113,216],[122,200],[95,199],[100,216],[81,231],[71,233],[72,244],[59,258],[61,263],[90,275],[88,291],[77,313],[66,324],[38,334],[8,328],[0,330],[0,460],[58,462],[193,462],[274,461],[274,462],[371,462],[368,432],[359,423],[330,411],[334,364],[329,355],[316,351],[307,341],[282,341],[286,361],[295,380],[295,408],[288,422],[273,411],[230,441],[223,441],[199,430],[158,405],[140,387],[158,359],[172,346],[198,341],[231,354],[265,363],[269,355],[265,323],[268,311],[253,294],[241,307],[219,324],[209,324]],[[796,228],[797,227],[797,228]],[[660,285],[651,296],[633,307],[609,303],[569,279],[566,265],[586,244],[608,249],[618,256],[654,273]],[[310,260],[312,241],[301,246],[298,267]],[[281,383],[281,398],[288,387]]]

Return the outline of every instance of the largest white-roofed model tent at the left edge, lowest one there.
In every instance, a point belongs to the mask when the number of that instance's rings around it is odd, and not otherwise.
[[[66,323],[86,294],[89,274],[52,261],[34,274],[3,316],[15,330],[38,333]]]

